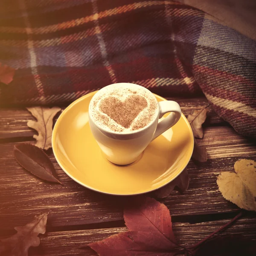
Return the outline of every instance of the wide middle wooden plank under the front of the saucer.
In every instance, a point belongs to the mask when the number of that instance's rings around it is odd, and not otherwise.
[[[229,126],[205,128],[201,140],[209,152],[207,163],[189,163],[189,189],[163,201],[174,216],[198,215],[237,211],[218,191],[219,172],[232,171],[239,158],[256,160],[256,145],[237,134]],[[60,177],[61,185],[41,181],[24,170],[14,159],[14,143],[0,144],[0,228],[9,230],[28,222],[42,211],[51,211],[52,226],[101,223],[122,219],[122,203],[126,197],[102,195],[85,189],[71,180],[58,166],[53,154],[50,158]],[[220,150],[221,149],[221,150]]]

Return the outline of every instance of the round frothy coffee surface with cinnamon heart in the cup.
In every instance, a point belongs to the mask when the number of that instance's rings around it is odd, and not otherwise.
[[[133,84],[111,85],[97,92],[90,102],[90,116],[107,131],[136,132],[158,115],[155,96]]]

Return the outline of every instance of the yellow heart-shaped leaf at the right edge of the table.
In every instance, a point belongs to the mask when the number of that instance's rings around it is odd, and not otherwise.
[[[223,197],[238,207],[256,211],[256,162],[241,159],[234,165],[235,172],[222,172],[217,179]]]

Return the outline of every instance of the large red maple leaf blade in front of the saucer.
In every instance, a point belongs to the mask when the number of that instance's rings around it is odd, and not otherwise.
[[[128,232],[89,244],[100,256],[173,256],[179,250],[170,212],[153,198],[124,210]]]

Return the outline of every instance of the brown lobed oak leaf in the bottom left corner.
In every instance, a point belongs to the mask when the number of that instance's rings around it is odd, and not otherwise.
[[[46,231],[48,213],[41,213],[23,227],[15,227],[17,233],[9,238],[0,240],[1,256],[27,256],[29,247],[40,244],[38,234]]]

